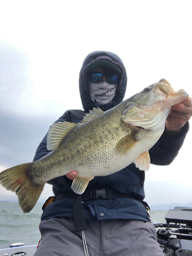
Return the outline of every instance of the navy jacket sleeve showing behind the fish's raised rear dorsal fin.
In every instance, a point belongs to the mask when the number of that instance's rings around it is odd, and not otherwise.
[[[54,123],[57,123],[57,122],[65,122],[65,121],[68,121],[67,118],[65,117],[65,114],[63,114],[61,117],[59,117],[58,120],[56,120]],[[39,146],[37,147],[37,150],[36,150],[36,153],[35,153],[35,156],[33,158],[33,161],[36,161],[44,156],[46,156],[47,154],[49,154],[51,151],[49,151],[47,149],[47,135],[48,135],[48,132],[47,134],[45,135],[45,137],[42,139],[42,141],[40,142]]]

